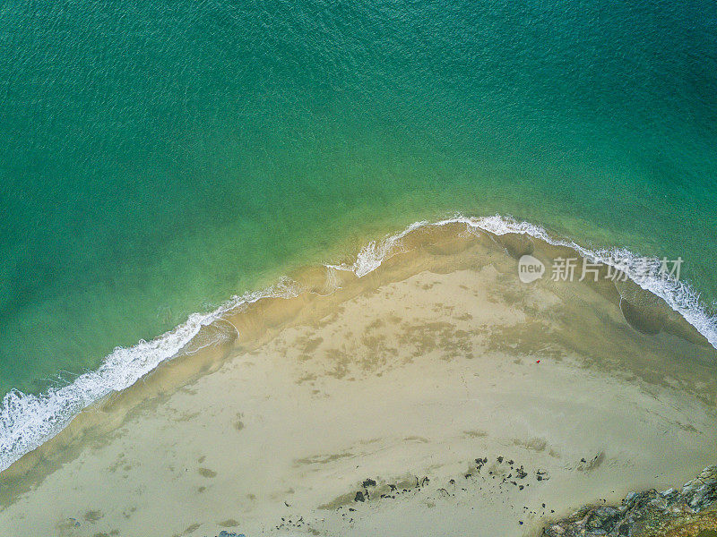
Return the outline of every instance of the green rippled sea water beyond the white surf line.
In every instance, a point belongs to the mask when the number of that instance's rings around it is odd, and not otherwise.
[[[717,3],[5,0],[0,395],[419,219],[717,298]]]

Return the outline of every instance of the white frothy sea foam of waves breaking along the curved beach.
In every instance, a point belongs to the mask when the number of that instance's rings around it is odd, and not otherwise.
[[[330,269],[327,283],[338,286],[338,279],[333,272],[335,270],[349,270],[358,277],[376,270],[384,260],[404,251],[402,239],[420,227],[455,223],[465,224],[468,233],[488,231],[498,235],[529,234],[547,243],[573,248],[585,258],[620,268],[639,286],[664,299],[717,347],[717,319],[704,310],[699,294],[683,282],[659,277],[656,273],[657,265],[653,264],[645,274],[644,258],[631,251],[589,250],[573,241],[552,237],[543,227],[500,215],[479,218],[456,215],[438,222],[416,222],[399,234],[368,243],[358,252],[352,265],[327,265]],[[616,260],[621,261],[619,266]],[[263,291],[235,296],[216,311],[194,313],[184,324],[151,341],[140,341],[128,348],[118,347],[108,355],[98,370],[83,373],[68,386],[50,388],[39,396],[16,390],[10,392],[4,396],[0,406],[0,471],[55,436],[83,408],[112,392],[132,386],[161,362],[176,356],[203,327],[220,320],[228,311],[255,303],[264,297],[289,298],[300,292],[296,283],[281,280],[276,286]]]

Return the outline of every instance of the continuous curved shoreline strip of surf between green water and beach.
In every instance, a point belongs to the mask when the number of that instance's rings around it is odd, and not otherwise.
[[[232,311],[238,311],[247,306],[251,307],[252,304],[266,299],[296,298],[298,294],[314,292],[316,286],[322,287],[326,293],[333,293],[335,285],[330,280],[333,278],[339,281],[340,277],[331,274],[332,270],[343,277],[349,277],[349,279],[366,277],[390,260],[393,255],[401,253],[403,248],[411,248],[411,234],[421,234],[427,229],[452,228],[453,226],[465,226],[465,233],[469,234],[484,233],[494,237],[503,237],[507,242],[518,244],[518,250],[514,250],[514,253],[520,250],[520,243],[528,240],[529,242],[543,243],[548,248],[567,249],[568,252],[582,256],[583,259],[598,260],[606,266],[612,263],[610,256],[616,252],[624,259],[629,259],[630,256],[635,257],[634,254],[627,251],[587,250],[572,241],[550,236],[540,226],[518,222],[499,215],[482,218],[456,216],[437,222],[416,222],[398,234],[387,235],[383,241],[367,243],[351,264],[327,264],[300,269],[297,272],[298,279],[289,275],[274,286],[232,297],[215,311],[195,313],[185,324],[149,342],[140,342],[140,344],[129,348],[117,348],[115,353],[108,356],[103,362],[98,371],[82,374],[70,386],[53,390],[41,396],[13,392],[7,394],[4,397],[2,416],[0,416],[2,418],[0,423],[3,424],[3,429],[0,430],[2,433],[0,434],[0,468],[2,468],[0,473],[26,453],[40,447],[65,429],[65,426],[83,409],[92,405],[101,405],[101,401],[105,397],[114,396],[117,392],[130,388],[151,371],[159,368],[162,363],[177,360],[177,357],[181,357],[183,354],[196,352],[195,349],[193,350],[193,346],[197,345],[197,340],[203,337],[200,333],[206,332],[207,327],[225,323],[223,318],[231,315]],[[408,246],[404,242],[408,243]],[[717,343],[717,320],[707,315],[699,303],[698,296],[688,286],[678,281],[662,281],[654,274],[642,277],[631,273],[632,268],[629,264],[619,268],[626,270],[626,274],[630,277],[626,283],[628,294],[634,296],[636,290],[637,294],[647,297],[647,302],[652,302],[654,299],[651,295],[656,294],[658,297],[656,300],[660,303],[659,308],[664,310],[660,315],[670,316],[672,311],[677,311],[678,317],[684,318],[687,324],[690,324],[694,331],[699,333],[690,336],[693,341],[704,338],[710,345],[714,346]],[[324,270],[328,270],[328,274],[324,277],[325,281],[312,282],[308,286],[301,283],[301,278],[307,273]],[[321,277],[319,276],[320,279]],[[669,308],[665,309],[661,301],[665,301]],[[688,328],[682,319],[676,318],[675,320],[678,324],[683,325],[676,328],[679,333],[684,335],[693,331],[693,328]],[[233,328],[235,331],[238,329]],[[217,337],[220,339],[232,339],[237,336],[237,334],[221,330],[218,330],[218,333],[220,335]],[[39,417],[39,421],[36,417]],[[31,421],[30,424],[28,424],[29,421]]]

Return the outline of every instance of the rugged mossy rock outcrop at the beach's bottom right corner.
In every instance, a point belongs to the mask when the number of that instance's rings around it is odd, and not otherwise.
[[[543,530],[547,537],[717,537],[717,465],[682,490],[630,492],[618,507],[583,507]]]

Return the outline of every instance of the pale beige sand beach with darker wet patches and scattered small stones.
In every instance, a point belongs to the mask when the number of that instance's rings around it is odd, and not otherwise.
[[[715,462],[716,353],[660,301],[523,284],[569,252],[462,225],[397,250],[80,414],[0,474],[0,534],[517,536]]]

